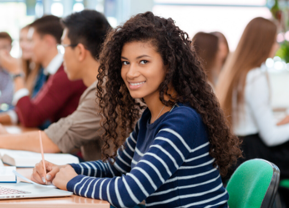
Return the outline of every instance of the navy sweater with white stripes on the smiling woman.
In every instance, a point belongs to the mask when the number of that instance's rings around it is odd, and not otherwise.
[[[146,109],[114,165],[71,164],[79,176],[67,183],[77,195],[116,207],[228,207],[229,195],[213,167],[201,116],[179,104],[150,124]]]

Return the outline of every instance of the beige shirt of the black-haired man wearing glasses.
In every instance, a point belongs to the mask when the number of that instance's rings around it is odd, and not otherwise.
[[[101,159],[100,129],[101,117],[97,115],[95,81],[80,97],[77,110],[51,124],[45,133],[63,153],[71,153],[75,149],[81,149],[84,160]]]

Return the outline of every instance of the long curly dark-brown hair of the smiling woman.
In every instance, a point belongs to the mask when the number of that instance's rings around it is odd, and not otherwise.
[[[190,103],[201,115],[209,132],[209,153],[215,158],[214,166],[218,165],[221,175],[226,175],[228,167],[241,156],[240,142],[226,123],[188,34],[171,18],[158,17],[152,12],[138,14],[112,29],[103,44],[97,76],[101,126],[105,131],[102,134],[105,142],[103,161],[114,162],[118,148],[123,147],[142,109],[141,102],[130,96],[121,77],[122,48],[130,42],[149,42],[156,48],[167,68],[165,79],[159,86],[160,100],[166,106]],[[171,97],[168,86],[174,88],[176,95],[167,101],[164,95]],[[110,154],[112,144],[114,152]]]

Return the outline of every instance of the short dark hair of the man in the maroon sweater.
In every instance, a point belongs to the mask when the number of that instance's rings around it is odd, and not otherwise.
[[[46,15],[29,24],[29,27],[33,27],[41,35],[50,34],[57,43],[61,43],[63,27],[59,17]]]

